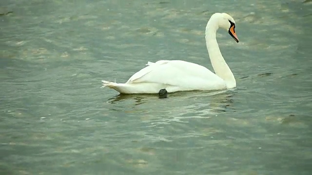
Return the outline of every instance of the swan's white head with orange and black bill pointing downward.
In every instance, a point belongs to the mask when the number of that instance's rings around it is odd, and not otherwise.
[[[227,30],[229,34],[234,38],[236,42],[238,42],[238,37],[235,33],[235,21],[234,19],[226,13],[217,13],[219,27]]]

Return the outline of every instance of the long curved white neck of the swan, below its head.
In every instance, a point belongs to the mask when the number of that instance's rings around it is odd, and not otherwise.
[[[226,64],[216,41],[216,31],[218,28],[217,19],[211,18],[206,26],[206,46],[210,61],[215,70],[215,74],[225,81],[227,88],[235,88],[236,81],[234,75]]]

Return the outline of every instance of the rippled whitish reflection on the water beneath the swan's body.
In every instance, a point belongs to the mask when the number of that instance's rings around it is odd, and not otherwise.
[[[224,112],[235,112],[236,90],[183,91],[159,99],[157,94],[116,95],[106,103],[118,116],[139,117],[146,127],[188,123],[192,118],[208,119]],[[120,113],[121,112],[121,113]]]

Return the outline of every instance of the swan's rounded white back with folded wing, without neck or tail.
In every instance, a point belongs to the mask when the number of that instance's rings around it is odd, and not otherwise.
[[[225,82],[207,68],[181,60],[159,60],[135,73],[127,82],[159,83],[198,90],[213,90]]]

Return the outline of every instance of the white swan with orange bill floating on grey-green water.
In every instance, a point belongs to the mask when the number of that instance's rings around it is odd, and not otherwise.
[[[147,67],[138,71],[126,83],[103,82],[103,87],[117,90],[122,94],[158,93],[160,89],[167,92],[188,90],[216,90],[235,88],[236,81],[226,64],[218,43],[218,28],[226,29],[238,42],[235,34],[235,21],[226,13],[215,13],[206,26],[206,45],[215,73],[195,63],[181,60],[160,60],[148,62]]]

